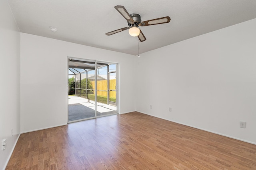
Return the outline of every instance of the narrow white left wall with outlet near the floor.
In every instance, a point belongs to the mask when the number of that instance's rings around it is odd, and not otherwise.
[[[6,0],[0,0],[0,63],[0,170],[2,170],[20,134],[20,32]],[[7,148],[2,150],[4,138],[7,139]]]

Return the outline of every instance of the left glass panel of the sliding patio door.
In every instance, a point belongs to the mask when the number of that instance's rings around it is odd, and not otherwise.
[[[88,63],[90,66],[88,66]],[[93,98],[95,96],[95,88],[92,84],[95,81],[95,67],[91,66],[92,62],[88,63],[78,59],[69,59],[68,84],[70,92],[68,94],[68,122],[96,118],[95,99]],[[74,88],[75,90],[72,93],[71,90]],[[90,100],[90,97],[92,97],[92,100]]]

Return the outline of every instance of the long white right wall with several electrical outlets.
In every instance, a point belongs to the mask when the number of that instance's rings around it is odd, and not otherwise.
[[[255,30],[256,19],[141,54],[136,110],[256,144]]]

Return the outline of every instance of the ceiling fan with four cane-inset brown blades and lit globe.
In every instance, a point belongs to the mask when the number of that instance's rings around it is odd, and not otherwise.
[[[142,33],[142,31],[138,28],[139,26],[149,26],[149,25],[156,25],[156,24],[164,24],[170,22],[171,18],[169,16],[162,17],[162,18],[156,18],[153,20],[147,20],[141,22],[141,18],[139,14],[129,14],[127,10],[124,8],[124,6],[117,5],[115,6],[115,9],[127,20],[129,27],[120,28],[118,30],[114,30],[111,32],[107,32],[106,35],[110,36],[113,34],[116,34],[118,32],[128,30],[129,34],[131,36],[138,36],[139,40],[145,41],[146,37]]]

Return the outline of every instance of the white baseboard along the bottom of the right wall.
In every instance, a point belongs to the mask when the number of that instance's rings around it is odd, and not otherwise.
[[[139,112],[139,111],[136,111],[136,112]],[[139,113],[147,114],[147,113],[144,113],[144,112],[139,112]],[[211,132],[211,133],[218,134],[218,135],[221,135],[221,136],[225,136],[225,137],[228,137],[228,138],[240,140],[240,141],[243,141],[243,142],[246,142],[246,143],[249,143],[249,144],[254,144],[254,145],[256,145],[255,142],[251,142],[251,141],[248,141],[248,140],[243,140],[243,139],[236,138],[236,137],[233,137],[233,136],[228,136],[228,135],[226,135],[226,134],[221,134],[221,133],[214,132],[214,131],[211,131],[211,130],[199,128],[199,127],[196,127],[196,126],[191,126],[191,125],[189,125],[189,124],[184,124],[184,123],[181,123],[181,122],[176,122],[176,121],[173,121],[173,120],[170,120],[170,119],[166,119],[166,118],[162,118],[162,117],[159,117],[159,116],[155,116],[155,115],[152,115],[152,114],[147,114],[147,115],[153,116],[153,117],[156,117],[156,118],[160,118],[160,119],[164,119],[164,120],[168,120],[168,121],[170,121],[170,122],[182,124],[182,125],[185,125],[185,126],[189,126],[189,127],[191,127],[191,128],[196,128],[196,129],[204,130],[204,131],[206,131],[206,132]]]

